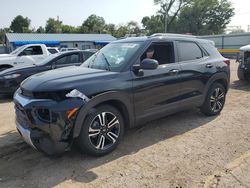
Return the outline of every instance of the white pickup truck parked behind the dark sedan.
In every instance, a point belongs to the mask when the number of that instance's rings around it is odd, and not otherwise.
[[[50,54],[44,44],[21,46],[10,54],[0,54],[0,71],[18,65],[30,65],[40,62]]]

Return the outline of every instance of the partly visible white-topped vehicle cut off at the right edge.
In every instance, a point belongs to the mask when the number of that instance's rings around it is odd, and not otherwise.
[[[240,80],[249,80],[250,78],[250,45],[240,48],[240,54],[238,57],[238,78]]]

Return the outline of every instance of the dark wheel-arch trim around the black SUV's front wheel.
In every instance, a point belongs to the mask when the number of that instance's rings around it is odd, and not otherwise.
[[[87,115],[91,112],[91,109],[95,108],[97,105],[102,104],[107,101],[119,101],[121,102],[127,109],[128,114],[128,119],[129,119],[129,126],[132,127],[134,126],[135,123],[135,118],[134,118],[134,108],[131,103],[131,99],[129,97],[129,94],[125,92],[119,92],[119,91],[110,91],[110,92],[105,92],[102,94],[99,94],[92,99],[90,99],[86,104],[84,104],[80,111],[78,112],[78,115],[76,117],[75,121],[75,127],[73,130],[73,137],[76,138],[79,136],[81,132],[81,128],[83,125],[83,122]],[[124,115],[124,114],[123,114]]]

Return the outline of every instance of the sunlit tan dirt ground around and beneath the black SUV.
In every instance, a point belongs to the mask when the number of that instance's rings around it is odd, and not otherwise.
[[[250,82],[236,70],[220,116],[192,109],[150,122],[101,158],[77,148],[45,157],[22,141],[2,100],[0,187],[250,187]]]

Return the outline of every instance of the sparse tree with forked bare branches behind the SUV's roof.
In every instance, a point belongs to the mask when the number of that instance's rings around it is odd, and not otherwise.
[[[179,12],[184,6],[187,6],[190,0],[154,0],[155,5],[160,5],[158,14],[163,17],[164,31],[169,32],[172,24],[177,18]]]

